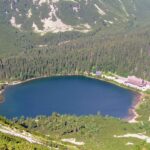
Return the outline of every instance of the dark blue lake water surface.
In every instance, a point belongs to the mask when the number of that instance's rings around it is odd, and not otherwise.
[[[80,76],[52,77],[9,86],[0,104],[0,115],[35,117],[60,114],[100,113],[128,116],[136,94],[113,84]]]

